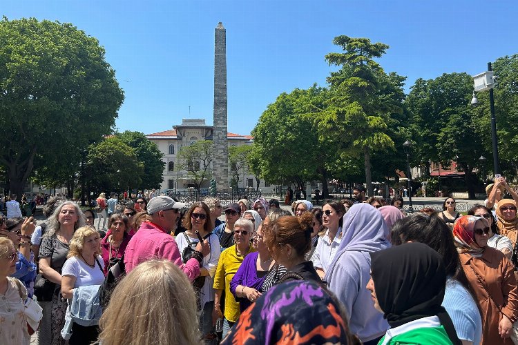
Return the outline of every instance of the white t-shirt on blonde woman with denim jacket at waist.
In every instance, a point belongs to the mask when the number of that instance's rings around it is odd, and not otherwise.
[[[63,268],[61,268],[61,277],[64,275],[72,275],[75,277],[74,287],[88,286],[88,285],[100,285],[104,282],[104,261],[102,256],[97,257],[97,261],[101,265],[95,262],[95,267],[91,268],[83,260],[77,257],[70,257],[66,259]]]

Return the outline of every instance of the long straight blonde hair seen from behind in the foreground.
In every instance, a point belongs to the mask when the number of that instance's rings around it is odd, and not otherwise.
[[[169,260],[143,262],[124,277],[99,326],[103,345],[200,343],[193,287]]]

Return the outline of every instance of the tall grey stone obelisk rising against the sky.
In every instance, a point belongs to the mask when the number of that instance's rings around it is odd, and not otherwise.
[[[218,23],[214,33],[214,160],[213,177],[218,190],[229,188],[227,143],[227,31]]]

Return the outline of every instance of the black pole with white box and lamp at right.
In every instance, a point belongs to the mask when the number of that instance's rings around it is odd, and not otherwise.
[[[474,91],[471,99],[471,106],[476,107],[479,100],[475,95],[475,91],[489,90],[489,105],[491,110],[491,137],[493,146],[493,169],[495,175],[500,174],[500,166],[498,164],[498,139],[497,139],[497,119],[495,118],[495,98],[493,96],[493,88],[495,88],[495,72],[492,71],[491,63],[488,62],[488,71],[473,76]]]

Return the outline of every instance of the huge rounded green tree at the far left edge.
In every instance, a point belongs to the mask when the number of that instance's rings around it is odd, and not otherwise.
[[[124,95],[104,54],[70,23],[0,21],[0,164],[12,193],[35,169],[77,166],[70,150],[111,132]]]

